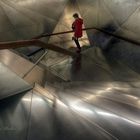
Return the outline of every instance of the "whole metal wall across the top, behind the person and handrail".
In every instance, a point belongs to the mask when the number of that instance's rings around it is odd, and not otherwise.
[[[71,28],[71,15],[78,12],[85,27],[104,28],[139,41],[139,7],[139,0],[1,0],[0,40],[29,39],[42,33],[64,31]],[[88,31],[87,34],[95,45],[96,33]],[[86,34],[84,38],[81,44],[89,44]],[[65,48],[73,46],[70,40],[71,35],[43,39]],[[32,46],[18,51],[28,55],[36,49]]]

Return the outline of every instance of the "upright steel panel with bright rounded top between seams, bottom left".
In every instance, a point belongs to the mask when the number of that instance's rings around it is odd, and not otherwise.
[[[28,140],[53,140],[55,129],[52,103],[49,103],[47,98],[34,92]]]

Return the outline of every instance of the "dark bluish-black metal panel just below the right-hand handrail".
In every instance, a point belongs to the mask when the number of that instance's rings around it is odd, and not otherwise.
[[[103,52],[108,60],[115,59],[132,71],[140,73],[140,46],[112,38]]]

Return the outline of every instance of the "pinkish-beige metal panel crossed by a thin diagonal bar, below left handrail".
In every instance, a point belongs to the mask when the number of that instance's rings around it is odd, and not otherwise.
[[[5,64],[11,71],[21,78],[23,78],[34,65],[10,50],[0,51],[0,62]],[[42,84],[43,77],[44,70],[39,66],[36,66],[26,77],[24,77],[24,80],[29,84],[34,84],[35,82]]]

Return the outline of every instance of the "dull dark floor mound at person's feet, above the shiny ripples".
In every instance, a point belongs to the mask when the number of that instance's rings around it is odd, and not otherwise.
[[[50,70],[67,81],[139,81],[137,72],[114,56],[108,57],[100,48],[90,48],[75,58],[50,66]]]

